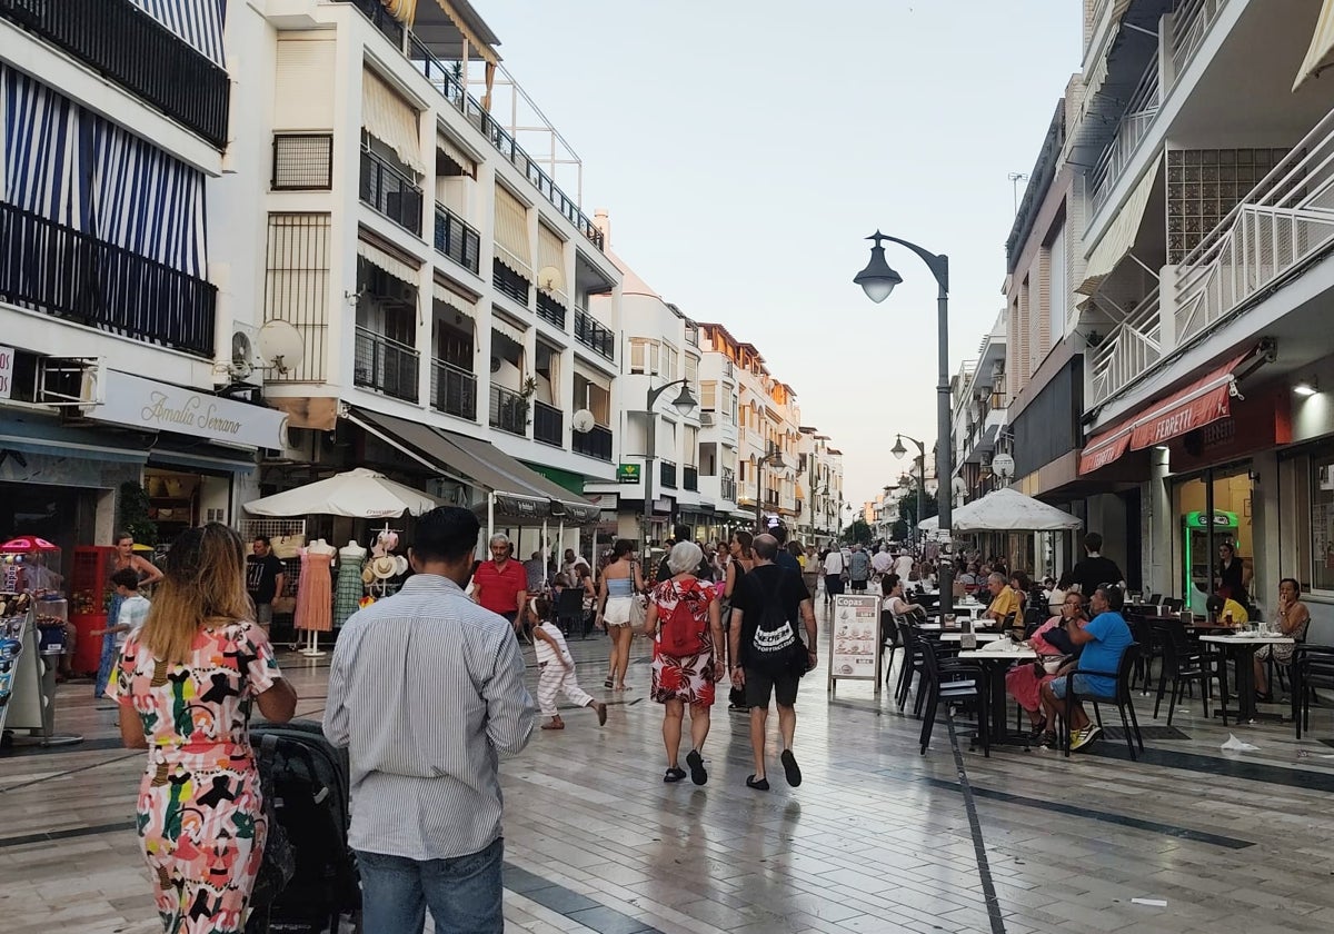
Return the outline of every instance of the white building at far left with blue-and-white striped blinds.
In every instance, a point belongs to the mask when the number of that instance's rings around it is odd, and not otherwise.
[[[148,542],[231,522],[284,446],[252,388],[215,394],[237,77],[220,4],[0,4],[0,534],[59,544],[72,595],[117,507]]]

